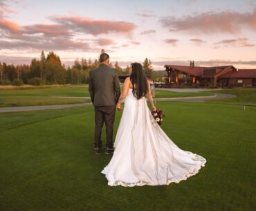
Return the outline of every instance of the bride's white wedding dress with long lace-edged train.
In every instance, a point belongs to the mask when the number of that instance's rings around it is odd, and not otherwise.
[[[115,152],[102,173],[108,185],[168,185],[199,172],[205,158],[179,149],[154,120],[145,97],[137,100],[132,89],[114,143]]]

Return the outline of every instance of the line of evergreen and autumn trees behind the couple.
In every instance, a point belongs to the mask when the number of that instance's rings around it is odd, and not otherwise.
[[[3,64],[0,61],[0,85],[42,85],[42,84],[87,84],[89,80],[89,71],[99,66],[100,62],[95,59],[94,62],[89,59],[75,59],[73,66],[66,67],[61,59],[54,52],[46,56],[42,51],[40,59],[32,59],[31,64]],[[121,68],[116,62],[114,65],[118,75],[129,74],[129,66]],[[152,62],[145,59],[143,68],[148,78],[155,80],[162,77],[154,73]]]

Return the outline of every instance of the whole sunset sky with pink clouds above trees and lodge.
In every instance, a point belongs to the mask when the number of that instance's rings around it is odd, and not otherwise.
[[[104,48],[122,66],[256,68],[256,0],[0,0],[0,62],[23,64],[44,50],[64,64]]]

